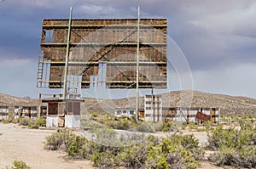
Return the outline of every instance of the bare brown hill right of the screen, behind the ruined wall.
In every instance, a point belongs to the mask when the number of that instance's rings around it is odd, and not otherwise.
[[[218,107],[221,113],[256,114],[256,99],[247,97],[234,97],[198,91],[177,91],[165,93],[162,98],[170,100],[172,107],[182,107],[183,104],[188,105],[189,103],[191,107]]]

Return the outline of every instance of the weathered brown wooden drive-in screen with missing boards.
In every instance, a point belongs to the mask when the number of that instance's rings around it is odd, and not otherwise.
[[[39,64],[38,81],[49,88],[63,84],[67,25],[68,20],[43,20],[40,60],[48,62],[50,73],[44,77],[47,70]],[[139,54],[139,87],[166,88],[166,19],[141,19]],[[106,87],[135,88],[136,55],[137,19],[72,20],[68,75],[82,75],[81,87],[90,87],[90,76],[98,76],[99,63],[105,62]]]

